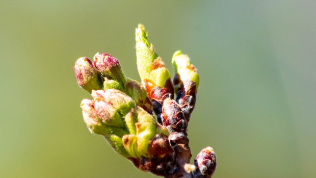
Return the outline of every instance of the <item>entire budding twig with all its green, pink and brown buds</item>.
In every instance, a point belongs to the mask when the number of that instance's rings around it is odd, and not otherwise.
[[[142,171],[169,178],[211,177],[217,165],[213,148],[202,149],[194,165],[189,164],[187,131],[199,86],[196,68],[187,55],[175,52],[172,83],[141,24],[136,54],[142,84],[125,77],[119,61],[109,54],[97,53],[92,62],[87,57],[76,61],[77,83],[93,97],[81,103],[88,129],[104,136]]]

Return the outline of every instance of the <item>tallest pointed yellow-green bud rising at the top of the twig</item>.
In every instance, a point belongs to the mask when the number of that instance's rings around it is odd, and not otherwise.
[[[149,44],[142,24],[136,29],[136,55],[141,80],[152,81],[156,86],[164,88],[170,73],[161,58],[154,52],[152,44]]]

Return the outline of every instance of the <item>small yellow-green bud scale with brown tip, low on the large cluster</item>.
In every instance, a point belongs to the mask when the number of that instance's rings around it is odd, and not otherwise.
[[[137,136],[135,135],[124,135],[123,138],[123,145],[130,157],[139,158],[139,153],[137,150]]]

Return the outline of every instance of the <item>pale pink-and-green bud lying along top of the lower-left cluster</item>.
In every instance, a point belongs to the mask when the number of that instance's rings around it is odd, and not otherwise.
[[[125,116],[130,108],[135,108],[134,100],[127,96],[125,93],[116,89],[109,90],[93,90],[91,96],[94,99],[101,99],[110,103],[115,109],[117,109],[123,116]]]

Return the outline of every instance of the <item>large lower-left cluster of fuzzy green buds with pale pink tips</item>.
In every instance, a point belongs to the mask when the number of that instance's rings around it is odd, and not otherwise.
[[[93,100],[81,104],[84,121],[91,133],[103,135],[120,155],[164,157],[172,150],[169,142],[157,139],[167,137],[168,131],[131,97],[116,89],[92,90],[91,96]]]

